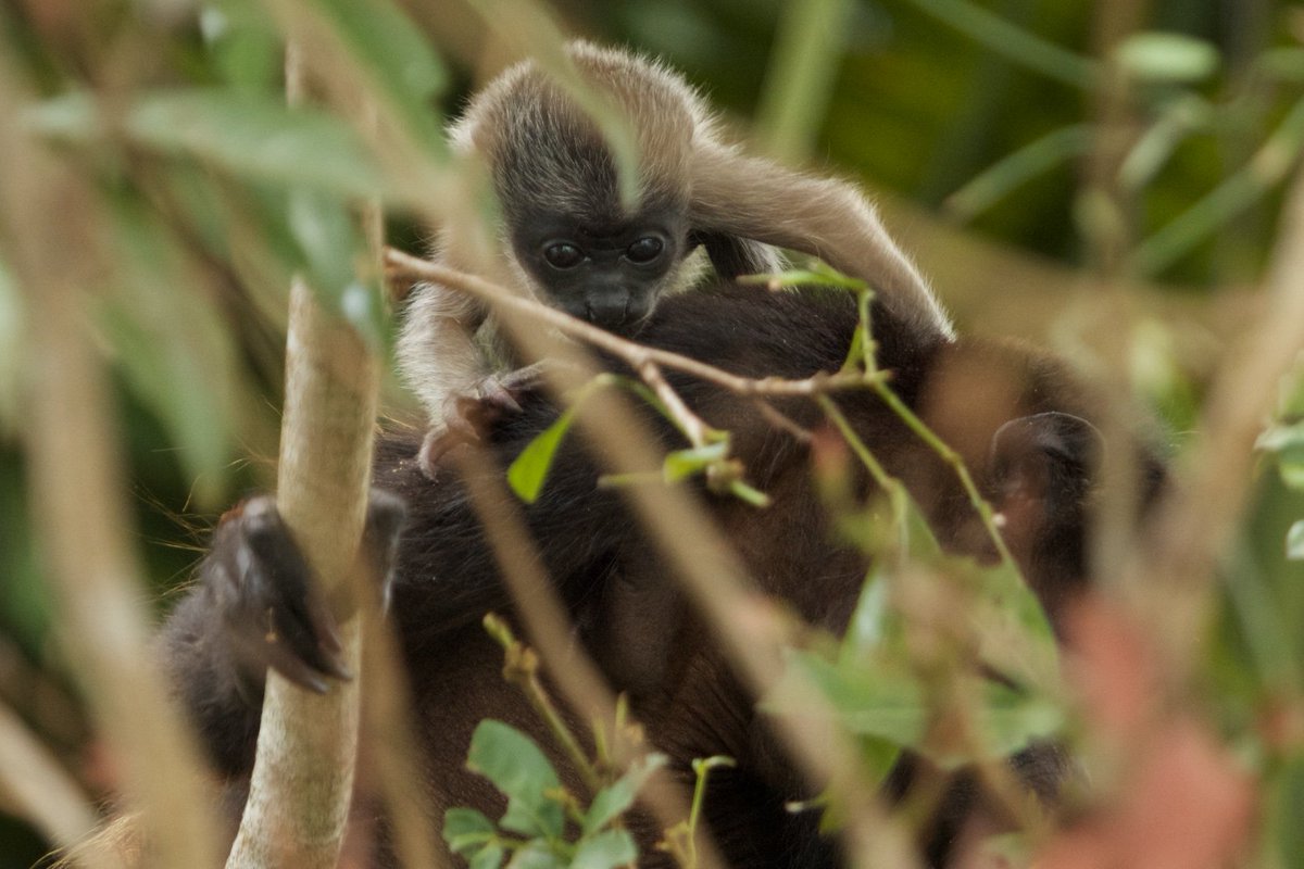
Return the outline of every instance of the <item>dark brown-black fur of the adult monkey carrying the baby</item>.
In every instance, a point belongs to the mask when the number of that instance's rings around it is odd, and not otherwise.
[[[878,357],[892,370],[897,393],[939,431],[956,435],[957,449],[998,507],[1003,499],[1021,499],[1026,509],[1017,521],[1025,526],[1012,529],[1011,539],[1034,586],[1058,612],[1086,573],[1084,503],[1097,446],[1088,423],[1072,422],[1091,416],[1085,393],[1058,365],[1022,349],[921,340],[887,314],[876,317]],[[836,370],[854,327],[854,302],[846,294],[776,294],[726,285],[668,300],[640,339],[743,375],[802,378]],[[763,588],[808,620],[841,629],[866,565],[861,555],[836,545],[825,528],[810,481],[808,447],[762,420],[750,401],[702,382],[674,379],[708,422],[734,433],[748,479],[775,498],[773,507],[758,511],[703,495],[726,539],[738,543]],[[957,382],[987,382],[990,390],[958,399],[944,395]],[[951,470],[868,392],[844,393],[838,403],[879,460],[911,486],[944,545],[990,555]],[[807,400],[778,406],[801,425],[820,425]],[[522,412],[498,420],[488,443],[506,463],[556,413],[544,395],[527,393]],[[1035,414],[1050,416],[1038,422]],[[648,418],[668,448],[683,446],[655,414]],[[1001,430],[1012,420],[1020,422]],[[498,679],[501,653],[480,628],[486,610],[511,611],[492,552],[452,474],[432,482],[416,466],[417,440],[412,434],[389,434],[376,457],[376,485],[399,495],[408,511],[391,612],[417,727],[429,734],[426,763],[441,799],[492,808],[496,797],[463,769],[471,730],[482,717],[536,732],[539,727],[515,691]],[[678,770],[709,754],[738,761],[735,770],[713,779],[708,800],[708,819],[733,865],[838,865],[835,846],[816,834],[812,814],[784,809],[786,800],[810,795],[707,632],[681,606],[673,577],[643,539],[622,496],[597,489],[596,474],[572,436],[542,496],[526,508],[583,640],[615,687],[630,692],[652,740]],[[865,491],[867,482],[858,481],[858,487]],[[246,545],[244,525],[237,516],[218,529],[201,582],[173,614],[166,638],[179,691],[215,763],[235,778],[249,769],[257,727],[257,691],[249,688],[249,667],[241,664],[239,632],[231,624],[244,611],[241,589],[252,582],[232,576],[233,554]],[[1029,780],[1046,770],[1043,763],[1030,771]],[[935,855],[941,859],[944,851],[939,847]]]

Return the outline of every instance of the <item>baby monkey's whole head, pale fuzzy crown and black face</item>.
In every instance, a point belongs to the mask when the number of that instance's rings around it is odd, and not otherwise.
[[[691,158],[695,139],[713,135],[712,119],[682,78],[651,61],[583,42],[567,55],[585,85],[630,122],[639,173],[629,207],[597,124],[531,63],[475,96],[452,143],[489,167],[516,280],[574,317],[631,335],[665,293],[694,278],[685,262],[699,241],[689,218]],[[741,259],[725,264],[733,274],[769,264],[764,255],[732,255]]]

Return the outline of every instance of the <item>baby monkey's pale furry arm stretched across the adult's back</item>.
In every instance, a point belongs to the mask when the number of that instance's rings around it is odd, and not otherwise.
[[[914,263],[853,185],[786,169],[724,145],[694,155],[692,225],[812,254],[879,291],[919,335],[953,337],[951,319]]]

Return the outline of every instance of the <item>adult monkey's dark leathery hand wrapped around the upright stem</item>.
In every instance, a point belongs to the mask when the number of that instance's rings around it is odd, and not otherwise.
[[[404,516],[400,498],[372,490],[361,558],[379,584],[382,606],[389,602]],[[329,679],[351,677],[336,627],[346,607],[333,607],[321,593],[270,495],[245,502],[223,520],[203,581],[241,691],[261,689],[267,667],[319,693]]]

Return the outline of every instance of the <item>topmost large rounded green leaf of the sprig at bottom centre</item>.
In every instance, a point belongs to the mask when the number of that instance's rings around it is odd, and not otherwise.
[[[561,783],[553,765],[532,739],[510,724],[482,720],[471,736],[467,769],[488,778],[507,796],[507,812],[499,821],[505,830],[528,836],[561,838],[562,805],[546,796]]]

